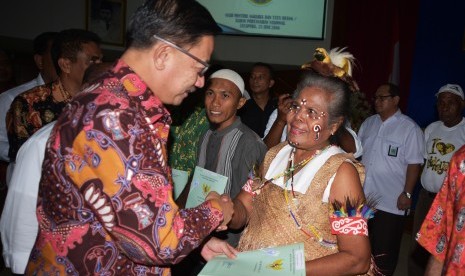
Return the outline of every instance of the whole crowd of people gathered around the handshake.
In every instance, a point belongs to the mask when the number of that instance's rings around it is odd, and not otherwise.
[[[13,274],[197,275],[218,255],[303,243],[307,275],[393,275],[410,210],[409,275],[465,271],[458,84],[422,130],[383,83],[354,131],[345,49],[316,49],[293,91],[273,91],[267,63],[210,65],[220,31],[197,1],[147,0],[117,60],[87,30],[34,39],[38,76],[0,94]],[[226,187],[186,208],[197,167]],[[173,169],[188,177],[177,198]]]

